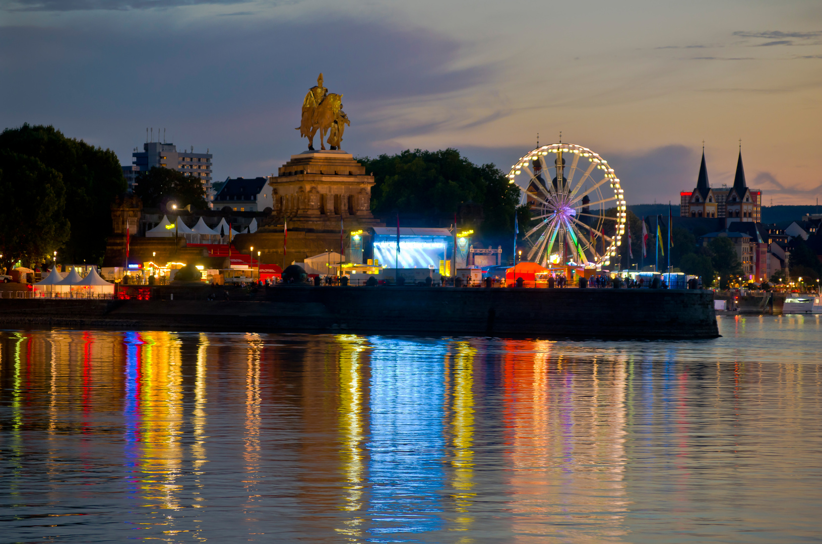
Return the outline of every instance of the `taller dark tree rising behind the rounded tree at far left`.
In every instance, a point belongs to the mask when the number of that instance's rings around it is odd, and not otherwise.
[[[38,159],[61,174],[62,213],[71,225],[62,255],[74,262],[102,259],[112,232],[110,205],[127,189],[117,154],[67,138],[54,127],[28,123],[2,131],[0,150]]]

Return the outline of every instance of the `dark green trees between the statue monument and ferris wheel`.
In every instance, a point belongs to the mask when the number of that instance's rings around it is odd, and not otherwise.
[[[463,204],[482,205],[477,237],[510,247],[520,190],[493,164],[477,166],[454,149],[405,150],[358,161],[374,176],[373,211],[441,215],[454,214]],[[524,226],[520,224],[520,232]]]

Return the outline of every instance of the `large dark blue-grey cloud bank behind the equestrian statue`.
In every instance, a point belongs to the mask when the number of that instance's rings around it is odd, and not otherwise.
[[[316,32],[330,25],[344,31]],[[180,147],[210,148],[215,178],[255,176],[263,164],[270,172],[268,157],[305,149],[294,127],[320,71],[330,92],[344,94],[347,149],[377,154],[386,151],[379,142],[398,132],[436,131],[429,125],[436,119],[398,125],[390,105],[470,94],[496,78],[492,65],[455,67],[460,47],[449,36],[386,21],[222,17],[173,31],[105,21],[82,29],[7,26],[0,80],[18,84],[0,86],[0,116],[4,127],[53,124],[115,150],[122,164],[131,163],[145,127],[167,127]],[[470,122],[494,117],[489,111]]]

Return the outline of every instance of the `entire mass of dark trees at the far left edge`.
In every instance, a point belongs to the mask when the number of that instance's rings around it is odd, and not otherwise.
[[[24,124],[0,134],[2,265],[61,260],[95,263],[111,233],[110,205],[126,191],[112,150]]]

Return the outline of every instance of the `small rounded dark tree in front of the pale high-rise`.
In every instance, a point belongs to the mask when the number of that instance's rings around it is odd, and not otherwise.
[[[134,194],[147,208],[156,208],[165,201],[174,201],[179,207],[192,205],[205,210],[205,187],[199,177],[187,176],[171,168],[153,166],[136,178]]]

